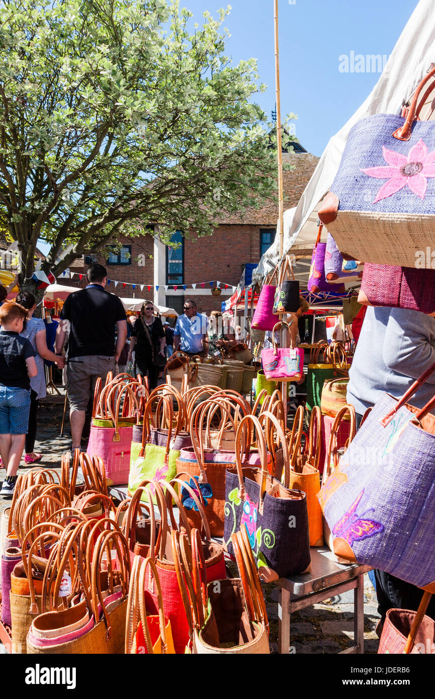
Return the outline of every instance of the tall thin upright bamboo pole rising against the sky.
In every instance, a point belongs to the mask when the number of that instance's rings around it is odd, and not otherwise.
[[[277,159],[278,159],[278,233],[279,233],[279,259],[283,257],[284,249],[284,197],[283,197],[283,154],[281,136],[281,90],[279,88],[279,41],[278,41],[278,0],[274,0],[274,34],[275,34],[275,89],[277,97]],[[287,315],[280,314],[281,320],[286,320]],[[286,347],[287,329],[281,326],[280,345]],[[287,383],[281,383],[281,394],[284,407],[284,426],[287,426]]]

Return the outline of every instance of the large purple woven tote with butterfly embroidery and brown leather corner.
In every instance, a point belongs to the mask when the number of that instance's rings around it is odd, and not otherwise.
[[[435,592],[435,408],[382,398],[357,432],[318,499],[334,553]],[[420,421],[420,422],[419,422]]]

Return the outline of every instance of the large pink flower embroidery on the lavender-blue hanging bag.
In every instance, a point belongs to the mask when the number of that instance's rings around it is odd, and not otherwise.
[[[376,177],[379,180],[386,180],[385,185],[382,185],[376,194],[376,201],[386,199],[392,194],[399,192],[408,185],[411,192],[420,196],[420,199],[425,199],[428,177],[435,177],[435,150],[429,153],[427,145],[420,138],[418,143],[411,148],[408,157],[395,150],[388,150],[385,146],[382,147],[383,157],[388,166],[380,166],[377,168],[362,169],[365,175]]]

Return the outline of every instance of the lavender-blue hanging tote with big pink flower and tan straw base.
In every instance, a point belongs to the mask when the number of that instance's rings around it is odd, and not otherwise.
[[[406,117],[375,114],[351,129],[331,191],[318,217],[344,257],[374,264],[422,266],[435,221],[435,127],[420,121],[420,82]]]

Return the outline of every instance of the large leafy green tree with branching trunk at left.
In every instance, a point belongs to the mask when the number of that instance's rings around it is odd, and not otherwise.
[[[3,1],[0,226],[22,282],[39,238],[59,275],[119,233],[207,235],[218,211],[270,196],[274,151],[250,101],[263,85],[254,59],[224,54],[229,10],[199,27],[175,0]]]

